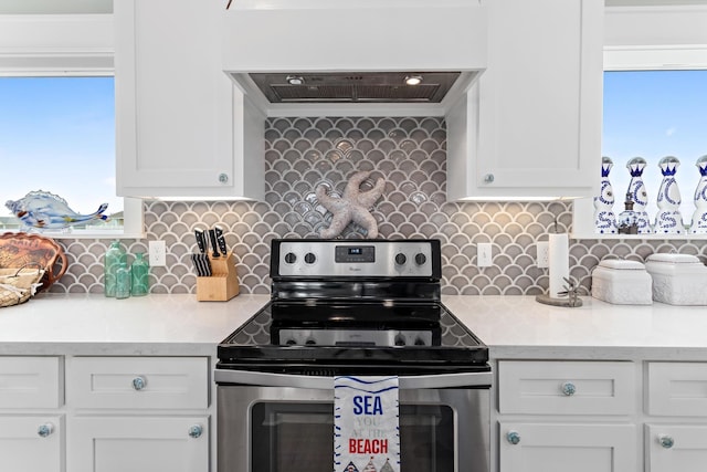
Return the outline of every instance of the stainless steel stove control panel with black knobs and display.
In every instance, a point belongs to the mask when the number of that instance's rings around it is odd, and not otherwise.
[[[279,276],[439,277],[439,240],[274,240]]]

